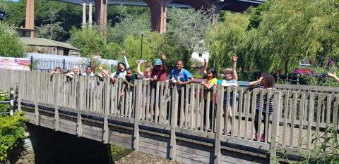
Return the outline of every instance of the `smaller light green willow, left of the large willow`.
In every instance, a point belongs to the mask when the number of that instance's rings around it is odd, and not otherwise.
[[[206,36],[210,49],[210,66],[214,68],[231,67],[231,58],[234,54],[239,56],[241,65],[249,64],[245,60],[246,46],[249,40],[247,26],[249,15],[240,13],[225,13],[225,22],[220,23]]]

